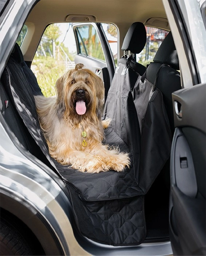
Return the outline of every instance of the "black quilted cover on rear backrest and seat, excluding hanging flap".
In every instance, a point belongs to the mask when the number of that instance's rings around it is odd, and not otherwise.
[[[19,72],[19,74],[22,73],[20,65],[13,64],[12,62],[7,65],[12,74],[16,72]],[[13,75],[10,75],[10,79],[11,93],[24,124],[50,163],[58,170],[58,173],[61,174],[66,183],[74,187],[81,194],[82,199],[99,201],[143,194],[135,181],[133,167],[130,169],[125,168],[124,172],[81,173],[78,170],[69,168],[69,166],[62,166],[52,159],[48,154],[47,144],[39,126],[34,96],[26,80],[26,76],[25,79],[21,78],[21,82],[18,82],[18,79]],[[129,152],[127,144],[124,143],[112,128],[105,130],[105,137],[105,143],[110,145],[118,144],[121,151]],[[131,155],[132,162],[133,158]]]

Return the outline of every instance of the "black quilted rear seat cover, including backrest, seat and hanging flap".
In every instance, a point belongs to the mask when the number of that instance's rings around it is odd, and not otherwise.
[[[60,165],[48,154],[36,114],[35,91],[22,74],[22,66],[10,58],[4,77],[8,93],[28,131],[69,188],[81,233],[110,245],[137,245],[143,242],[146,235],[144,199],[141,196],[143,191],[136,182],[132,153],[131,168],[119,173],[112,170],[99,174],[81,173]],[[105,130],[105,137],[105,143],[118,144],[121,151],[130,151],[112,128]]]

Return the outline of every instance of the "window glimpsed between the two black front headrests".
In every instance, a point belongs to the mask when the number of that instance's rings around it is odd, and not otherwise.
[[[145,29],[147,31],[146,45],[141,53],[136,54],[137,62],[144,66],[153,60],[153,57],[155,56],[155,53],[157,52],[160,44],[162,44],[162,41],[169,33],[166,30],[156,29],[155,27],[145,26]]]

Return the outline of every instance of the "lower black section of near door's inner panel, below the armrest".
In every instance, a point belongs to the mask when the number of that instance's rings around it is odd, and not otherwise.
[[[186,196],[176,186],[171,196],[179,241],[179,250],[172,246],[174,255],[205,255],[205,199]]]

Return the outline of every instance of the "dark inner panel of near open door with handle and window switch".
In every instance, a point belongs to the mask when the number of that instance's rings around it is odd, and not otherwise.
[[[172,94],[170,236],[174,255],[206,253],[206,84]]]

